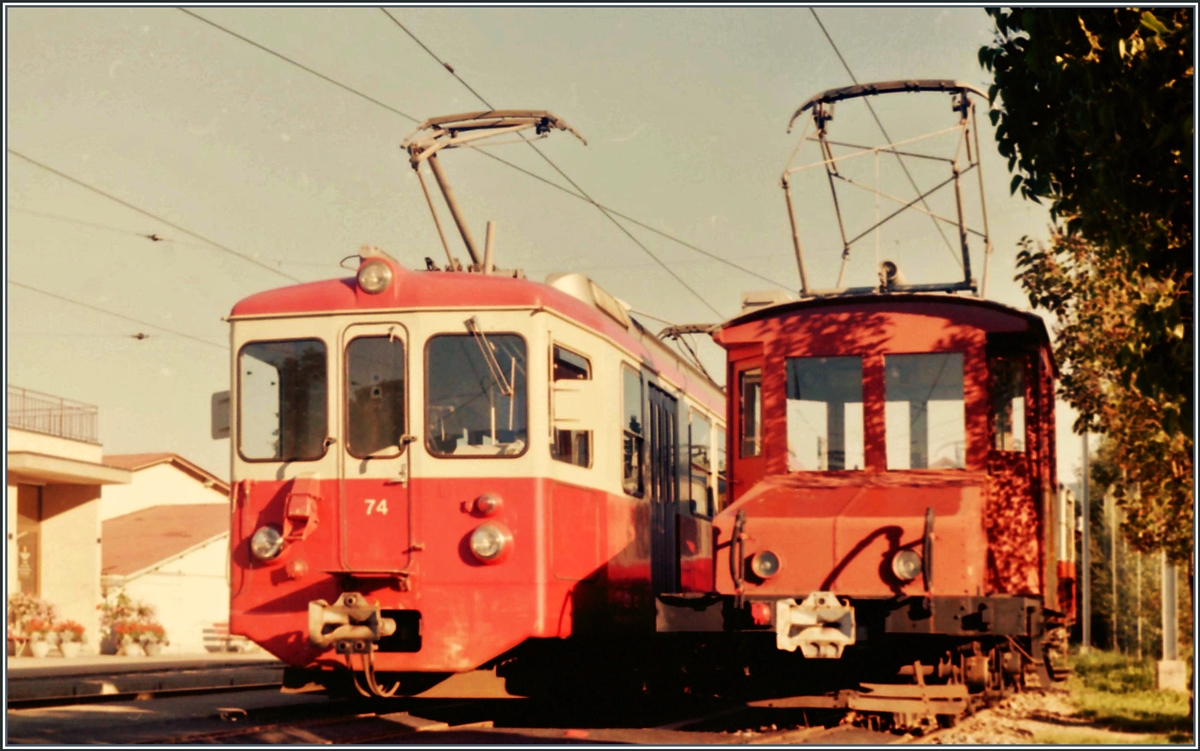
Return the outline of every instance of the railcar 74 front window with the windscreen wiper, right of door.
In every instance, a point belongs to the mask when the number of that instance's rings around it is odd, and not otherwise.
[[[529,435],[523,338],[479,329],[434,336],[425,361],[425,445],[430,453],[524,453]]]

